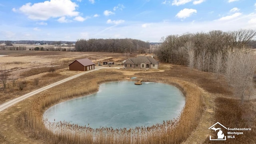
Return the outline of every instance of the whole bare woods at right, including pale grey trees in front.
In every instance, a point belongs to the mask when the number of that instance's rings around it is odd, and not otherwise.
[[[256,31],[210,31],[162,38],[156,51],[162,62],[187,65],[201,71],[224,74],[234,94],[244,99],[254,95],[255,56],[250,54]],[[217,75],[218,76],[218,75]]]

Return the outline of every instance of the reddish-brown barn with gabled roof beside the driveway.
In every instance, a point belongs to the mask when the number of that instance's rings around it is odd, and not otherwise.
[[[69,70],[87,71],[94,69],[94,62],[88,58],[78,59],[69,64]]]

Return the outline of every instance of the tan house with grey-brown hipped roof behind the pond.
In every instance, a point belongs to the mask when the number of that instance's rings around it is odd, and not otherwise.
[[[134,58],[128,58],[124,63],[123,63],[124,68],[154,68],[158,69],[159,68],[159,62],[156,61],[152,57],[147,57],[147,56],[137,56]]]

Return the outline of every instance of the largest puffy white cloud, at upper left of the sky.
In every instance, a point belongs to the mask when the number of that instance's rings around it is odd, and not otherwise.
[[[27,3],[19,8],[28,18],[35,20],[47,20],[63,16],[78,16],[78,5],[71,0],[50,0],[35,4]]]

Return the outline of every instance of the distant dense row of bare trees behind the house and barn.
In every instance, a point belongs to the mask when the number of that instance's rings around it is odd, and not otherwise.
[[[145,53],[149,43],[137,39],[79,39],[76,51],[113,52],[113,53]]]

